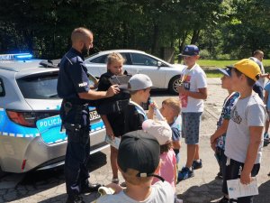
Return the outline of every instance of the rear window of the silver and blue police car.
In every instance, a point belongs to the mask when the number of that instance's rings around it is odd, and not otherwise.
[[[19,78],[17,82],[25,98],[59,98],[57,92],[58,74]]]

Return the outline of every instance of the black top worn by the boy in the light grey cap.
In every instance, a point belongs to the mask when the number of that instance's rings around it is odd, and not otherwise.
[[[130,103],[128,106],[126,106],[126,109],[124,111],[124,134],[127,134],[131,131],[141,130],[141,125],[144,120],[145,117],[138,112],[135,105]]]

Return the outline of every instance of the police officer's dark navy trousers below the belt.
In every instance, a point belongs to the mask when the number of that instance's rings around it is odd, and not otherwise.
[[[89,171],[86,168],[90,154],[89,126],[67,129],[67,152],[65,179],[68,196],[78,195],[88,185]]]

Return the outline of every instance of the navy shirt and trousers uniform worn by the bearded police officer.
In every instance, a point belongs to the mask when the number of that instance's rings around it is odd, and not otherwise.
[[[67,195],[74,197],[89,184],[86,168],[90,154],[89,108],[88,101],[78,97],[78,93],[88,92],[89,79],[84,56],[73,48],[62,58],[59,67],[58,96],[63,98],[60,116],[67,133],[66,189]]]

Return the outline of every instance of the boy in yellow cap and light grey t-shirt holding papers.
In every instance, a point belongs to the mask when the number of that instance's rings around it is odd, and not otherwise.
[[[240,179],[242,184],[247,185],[252,181],[251,177],[257,176],[260,168],[266,107],[252,90],[260,74],[253,60],[239,60],[231,67],[232,88],[240,97],[231,109],[227,130],[227,163],[222,187],[225,194],[228,194],[227,180]],[[253,196],[238,198],[237,202],[253,202]]]

